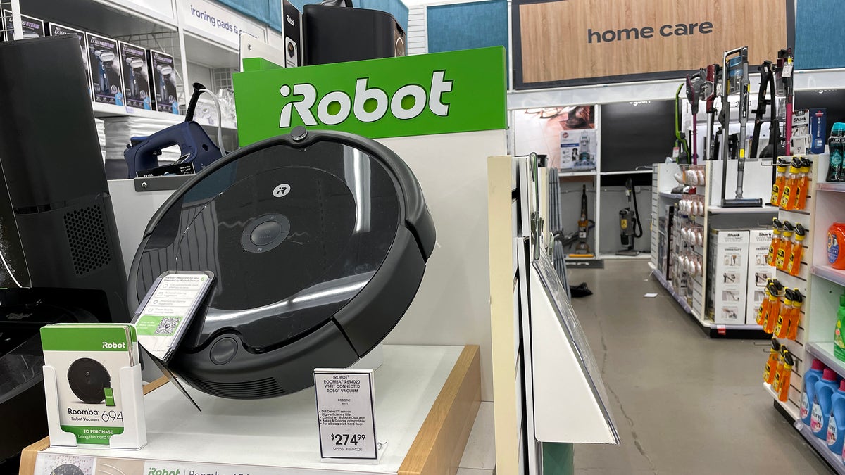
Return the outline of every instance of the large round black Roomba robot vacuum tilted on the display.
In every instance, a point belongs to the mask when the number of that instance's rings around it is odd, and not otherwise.
[[[214,396],[258,399],[347,367],[405,313],[434,247],[411,169],[379,143],[306,131],[205,167],[144,232],[130,306],[166,270],[210,270],[215,287],[168,368]]]

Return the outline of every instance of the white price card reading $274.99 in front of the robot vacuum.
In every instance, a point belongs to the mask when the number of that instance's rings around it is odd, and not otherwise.
[[[314,369],[320,456],[378,458],[373,369]]]

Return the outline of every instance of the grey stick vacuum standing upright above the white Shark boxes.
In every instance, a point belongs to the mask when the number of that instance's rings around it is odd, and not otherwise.
[[[743,198],[742,185],[745,174],[745,126],[748,124],[748,96],[750,81],[748,79],[748,46],[725,52],[722,57],[722,208],[750,208],[761,207],[760,198]],[[724,140],[728,137],[731,110],[728,96],[733,89],[739,92],[739,140],[737,141],[737,189],[736,198],[725,198],[725,184],[728,182],[728,144]]]

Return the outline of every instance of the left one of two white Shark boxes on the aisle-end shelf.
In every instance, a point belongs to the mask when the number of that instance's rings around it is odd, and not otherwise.
[[[749,232],[712,229],[709,246],[711,292],[708,300],[713,321],[744,325]]]

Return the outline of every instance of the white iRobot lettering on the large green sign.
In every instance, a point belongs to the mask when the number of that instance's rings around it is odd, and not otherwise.
[[[449,116],[449,104],[443,101],[444,93],[452,90],[451,80],[445,79],[445,71],[432,74],[428,90],[423,85],[403,85],[388,94],[378,87],[370,87],[368,78],[356,79],[352,96],[343,90],[334,90],[319,97],[314,85],[309,83],[282,85],[279,94],[282,97],[297,97],[281,109],[279,128],[291,127],[293,111],[306,126],[336,125],[354,116],[363,123],[373,123],[385,117],[389,112],[393,117],[408,120],[419,117],[428,108],[434,115]],[[317,106],[317,117],[313,107]],[[319,122],[318,122],[319,121]]]

